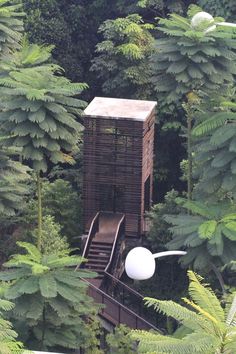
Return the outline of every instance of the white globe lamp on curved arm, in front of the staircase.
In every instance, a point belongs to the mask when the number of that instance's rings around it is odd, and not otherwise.
[[[127,255],[125,260],[125,271],[129,278],[145,280],[153,276],[156,269],[156,258],[166,256],[183,256],[185,251],[165,251],[152,254],[147,248],[135,247]]]

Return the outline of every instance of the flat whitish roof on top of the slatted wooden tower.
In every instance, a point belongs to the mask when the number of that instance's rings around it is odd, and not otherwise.
[[[145,121],[156,106],[155,101],[95,97],[85,109],[85,116],[124,118]]]

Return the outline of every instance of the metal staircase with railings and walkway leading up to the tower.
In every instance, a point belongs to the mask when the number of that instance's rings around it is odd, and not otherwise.
[[[93,219],[83,252],[86,269],[96,271],[95,279],[86,280],[88,293],[105,307],[100,316],[112,325],[126,324],[134,329],[155,329],[156,317],[143,304],[143,296],[118,278],[124,270],[123,250],[125,216],[99,212]]]

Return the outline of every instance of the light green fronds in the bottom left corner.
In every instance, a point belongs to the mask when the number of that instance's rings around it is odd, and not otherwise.
[[[14,304],[4,298],[6,286],[0,287],[0,354],[22,354],[23,344],[16,340],[17,333],[11,322],[4,319],[4,313],[11,311]]]

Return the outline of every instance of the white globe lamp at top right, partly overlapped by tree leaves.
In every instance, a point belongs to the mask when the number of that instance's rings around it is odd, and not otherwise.
[[[201,26],[203,23],[209,24],[209,27],[205,30],[205,33],[214,31],[216,29],[216,26],[236,28],[235,23],[215,22],[213,16],[211,14],[209,14],[208,12],[200,11],[192,17],[191,26],[193,28],[197,28],[197,27]]]

